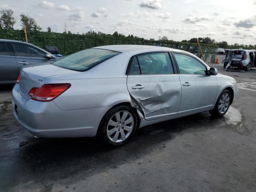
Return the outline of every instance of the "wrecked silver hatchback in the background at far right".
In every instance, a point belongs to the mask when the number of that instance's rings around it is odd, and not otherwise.
[[[256,66],[256,51],[255,50],[230,50],[224,60],[224,69],[237,67],[250,71]]]

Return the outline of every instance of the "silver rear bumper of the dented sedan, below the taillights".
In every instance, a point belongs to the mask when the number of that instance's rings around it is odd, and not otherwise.
[[[44,138],[93,137],[110,107],[60,110],[54,102],[24,99],[16,84],[12,90],[14,117],[30,133]],[[17,109],[18,113],[16,112]]]

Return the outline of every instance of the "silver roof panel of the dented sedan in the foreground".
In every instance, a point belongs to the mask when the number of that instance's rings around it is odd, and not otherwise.
[[[106,45],[106,46],[99,46],[94,48],[112,50],[112,51],[117,51],[122,53],[137,51],[137,50],[139,50],[140,52],[159,51],[159,50],[181,51],[181,50],[168,48],[168,47],[158,47],[158,46],[148,46],[148,45]]]

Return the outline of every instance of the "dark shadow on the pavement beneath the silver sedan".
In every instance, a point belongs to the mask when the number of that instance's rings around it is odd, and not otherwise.
[[[176,135],[210,128],[218,122],[208,112],[170,120],[139,129],[124,146],[110,147],[98,138],[40,138],[32,136],[20,142],[18,158],[12,159],[15,172],[24,173],[22,179],[40,181],[67,178],[83,172],[83,176],[100,173],[106,168],[134,162],[134,160],[161,151]],[[20,166],[22,164],[22,166]],[[45,175],[46,174],[46,175]],[[28,178],[26,178],[28,177]],[[8,177],[7,177],[8,178]]]

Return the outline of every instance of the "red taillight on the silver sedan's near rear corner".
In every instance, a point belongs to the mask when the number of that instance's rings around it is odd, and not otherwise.
[[[44,84],[34,94],[32,99],[36,101],[51,101],[70,88],[71,84]],[[34,89],[34,88],[32,88]],[[32,90],[31,89],[31,90]],[[30,92],[31,92],[30,90]],[[33,90],[34,91],[34,90]]]

